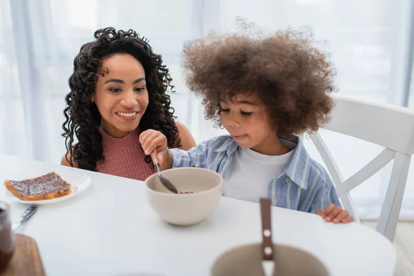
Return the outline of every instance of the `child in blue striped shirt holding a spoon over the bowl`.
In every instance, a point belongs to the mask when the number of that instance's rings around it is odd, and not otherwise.
[[[206,118],[230,135],[189,151],[168,150],[157,130],[141,133],[146,154],[163,169],[200,167],[224,177],[224,196],[318,213],[334,223],[353,218],[342,210],[335,186],[302,143],[333,108],[334,72],[312,36],[288,30],[264,39],[210,36],[184,48],[188,86],[203,97]],[[299,135],[295,136],[295,135]]]

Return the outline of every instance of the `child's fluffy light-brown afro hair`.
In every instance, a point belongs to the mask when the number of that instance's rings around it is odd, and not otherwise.
[[[315,132],[331,119],[333,70],[307,31],[278,31],[260,39],[210,34],[184,46],[184,76],[203,98],[206,119],[222,127],[220,99],[254,93],[279,135]]]

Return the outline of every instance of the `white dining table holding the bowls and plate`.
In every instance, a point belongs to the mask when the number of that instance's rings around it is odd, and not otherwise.
[[[51,170],[77,170],[0,155],[0,181]],[[79,171],[79,170],[77,170]],[[144,183],[82,170],[92,179],[79,196],[39,206],[24,234],[36,239],[47,275],[209,275],[224,250],[259,242],[259,204],[222,198],[215,213],[190,228],[152,212]],[[0,200],[6,200],[1,185]],[[12,219],[28,206],[11,203]],[[274,241],[313,253],[332,275],[393,275],[395,248],[359,224],[328,224],[317,215],[272,209]]]

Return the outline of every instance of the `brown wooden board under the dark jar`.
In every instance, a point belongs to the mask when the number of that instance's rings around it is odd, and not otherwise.
[[[14,254],[0,276],[44,276],[37,244],[26,235],[14,235]]]

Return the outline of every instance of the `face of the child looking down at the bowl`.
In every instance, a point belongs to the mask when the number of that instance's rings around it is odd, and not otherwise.
[[[279,145],[277,130],[272,128],[266,106],[254,95],[221,99],[221,123],[242,148],[271,155]]]

